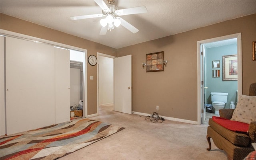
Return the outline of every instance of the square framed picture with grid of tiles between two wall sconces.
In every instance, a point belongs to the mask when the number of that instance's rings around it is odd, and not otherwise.
[[[164,71],[164,51],[146,54],[146,72]]]

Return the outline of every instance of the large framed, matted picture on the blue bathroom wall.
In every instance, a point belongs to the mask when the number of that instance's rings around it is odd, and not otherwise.
[[[222,56],[222,80],[237,80],[237,55]]]

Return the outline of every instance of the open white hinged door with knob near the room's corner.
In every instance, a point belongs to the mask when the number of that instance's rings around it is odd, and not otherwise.
[[[114,59],[114,111],[132,114],[132,55]]]

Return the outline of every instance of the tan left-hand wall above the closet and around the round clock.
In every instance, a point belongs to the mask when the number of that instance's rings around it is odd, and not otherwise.
[[[87,49],[88,57],[97,52],[116,56],[116,49],[82,39],[54,29],[1,14],[0,28],[8,31]],[[88,115],[97,113],[97,66],[87,66]],[[94,76],[94,80],[90,80]]]

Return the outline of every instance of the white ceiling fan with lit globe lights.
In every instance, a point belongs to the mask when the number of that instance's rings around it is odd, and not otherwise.
[[[115,27],[119,25],[124,26],[126,29],[131,31],[132,33],[137,33],[139,30],[125,21],[124,19],[120,18],[119,16],[129,15],[129,14],[140,14],[148,12],[145,6],[139,6],[134,8],[126,8],[118,10],[118,8],[114,5],[114,0],[107,0],[108,4],[106,4],[103,0],[94,0],[98,6],[102,9],[102,14],[91,14],[91,15],[84,15],[84,16],[74,16],[70,17],[71,20],[82,20],[88,18],[97,18],[97,17],[104,17],[100,20],[100,24],[102,28],[100,30],[100,35],[106,35],[107,31],[111,31]]]

